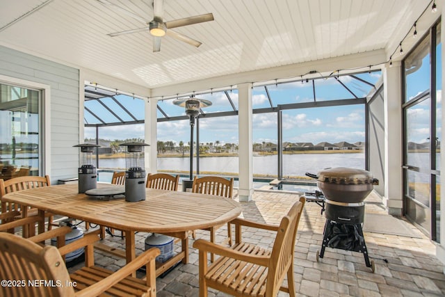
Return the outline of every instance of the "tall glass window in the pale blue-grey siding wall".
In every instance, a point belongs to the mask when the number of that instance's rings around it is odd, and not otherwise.
[[[41,92],[0,83],[1,178],[40,175]]]

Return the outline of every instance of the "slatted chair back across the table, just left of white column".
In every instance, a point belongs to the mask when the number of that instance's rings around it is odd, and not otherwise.
[[[232,198],[234,193],[234,178],[225,179],[224,177],[212,176],[195,177],[195,179],[193,179],[192,192]]]

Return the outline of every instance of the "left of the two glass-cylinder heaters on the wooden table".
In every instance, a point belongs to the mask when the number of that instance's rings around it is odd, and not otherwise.
[[[97,187],[95,159],[92,156],[100,145],[81,143],[74,147],[79,147],[79,193],[85,193]]]

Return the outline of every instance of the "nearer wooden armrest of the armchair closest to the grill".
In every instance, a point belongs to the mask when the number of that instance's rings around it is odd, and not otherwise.
[[[270,257],[268,256],[256,256],[246,254],[245,252],[239,252],[232,248],[226,248],[225,246],[218,246],[210,241],[205,241],[204,239],[197,239],[193,243],[193,248],[202,250],[204,252],[212,252],[213,254],[220,255],[223,257],[229,257],[232,259],[237,259],[243,262],[250,262],[253,264],[258,264],[261,266],[268,266]]]

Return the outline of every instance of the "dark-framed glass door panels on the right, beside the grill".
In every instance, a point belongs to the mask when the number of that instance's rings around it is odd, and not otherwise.
[[[404,214],[439,242],[440,129],[442,126],[440,25],[430,29],[403,61]]]

